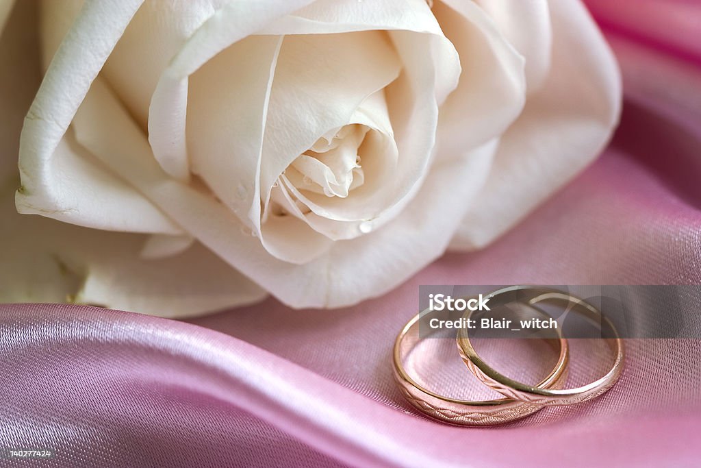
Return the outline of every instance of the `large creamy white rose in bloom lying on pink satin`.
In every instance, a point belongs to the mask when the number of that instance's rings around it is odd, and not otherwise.
[[[618,119],[576,0],[44,0],[40,18],[16,206],[139,234],[64,260],[78,300],[110,307],[386,293],[505,232]],[[90,276],[95,243],[118,279]]]

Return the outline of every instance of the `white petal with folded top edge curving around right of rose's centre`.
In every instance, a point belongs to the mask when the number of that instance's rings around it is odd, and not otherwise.
[[[362,234],[360,225],[365,229],[377,229],[406,206],[420,187],[430,161],[427,156],[430,156],[435,144],[433,129],[437,121],[437,105],[458,83],[460,69],[456,51],[445,39],[424,0],[362,3],[317,1],[294,15],[280,18],[261,31],[264,34],[331,34],[364,29],[389,30],[404,65],[400,78],[386,89],[402,164],[391,178],[384,179],[385,184],[376,192],[373,203],[363,200],[364,204],[359,203],[356,207],[365,211],[374,209],[370,219],[359,220],[346,227],[324,220],[314,221],[315,229],[333,229],[331,236],[335,239]],[[433,95],[426,93],[430,89],[434,90]],[[359,189],[366,185],[367,178]],[[343,200],[342,209],[339,203],[339,213],[334,216],[358,218],[353,213],[353,206],[350,206],[351,198],[349,196]],[[333,203],[336,201],[326,201],[325,205],[332,206]],[[308,218],[311,217],[313,215],[308,215]],[[322,224],[329,226],[322,228]]]

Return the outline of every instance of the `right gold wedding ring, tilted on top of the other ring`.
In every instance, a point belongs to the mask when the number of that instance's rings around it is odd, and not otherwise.
[[[491,368],[491,366],[485,363],[477,352],[475,352],[475,348],[472,347],[470,338],[468,337],[468,330],[461,328],[458,330],[457,338],[461,357],[465,365],[470,369],[470,372],[484,382],[485,385],[512,399],[541,405],[570,405],[596,398],[613,387],[618,380],[623,368],[623,342],[618,335],[618,331],[616,331],[613,326],[613,323],[611,323],[604,314],[601,314],[601,311],[596,307],[568,293],[537,286],[511,286],[510,288],[496,290],[486,297],[491,301],[489,303],[490,306],[505,305],[510,302],[524,302],[529,305],[535,305],[540,302],[550,302],[564,305],[564,307],[571,309],[573,312],[582,314],[587,319],[590,319],[590,321],[596,321],[597,323],[603,322],[604,325],[613,332],[613,338],[604,339],[613,350],[615,359],[611,370],[608,370],[608,373],[606,373],[604,377],[584,385],[583,387],[573,389],[533,387],[533,385],[526,385],[522,382],[512,380],[498,373],[494,368]]]

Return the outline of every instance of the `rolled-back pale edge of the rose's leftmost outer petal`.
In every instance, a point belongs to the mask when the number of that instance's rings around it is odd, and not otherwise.
[[[69,195],[76,184],[72,178],[55,176],[53,156],[90,83],[141,4],[140,0],[86,1],[66,35],[22,128],[22,188],[16,199],[23,209],[57,216],[79,211],[76,198]],[[86,43],[93,45],[89,54],[81,53]]]

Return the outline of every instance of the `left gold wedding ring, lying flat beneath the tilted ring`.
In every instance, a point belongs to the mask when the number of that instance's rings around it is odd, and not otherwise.
[[[531,308],[540,314],[547,315],[536,307]],[[421,314],[414,316],[402,328],[395,340],[393,352],[394,377],[402,392],[402,396],[411,403],[411,406],[434,419],[463,426],[503,424],[518,420],[543,408],[543,405],[540,404],[526,403],[508,398],[488,401],[453,399],[439,395],[419,385],[407,374],[404,368],[404,361],[419,340],[419,321],[431,312],[430,309],[426,309]],[[553,370],[537,387],[562,388],[567,378],[567,364],[569,362],[567,341],[562,336],[545,341],[552,343],[554,348],[559,350],[559,357]]]

